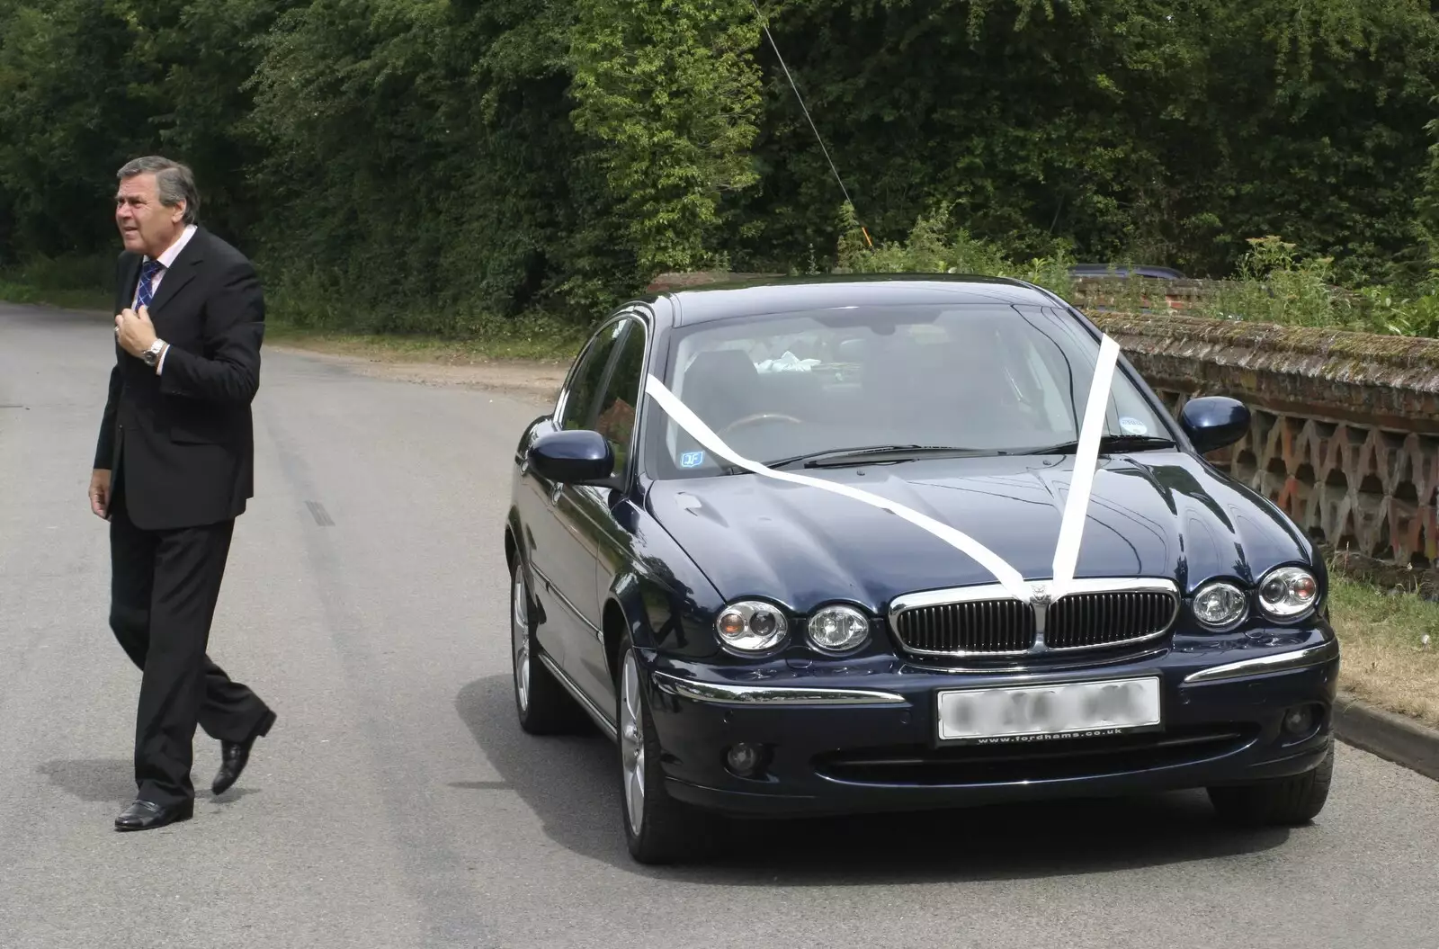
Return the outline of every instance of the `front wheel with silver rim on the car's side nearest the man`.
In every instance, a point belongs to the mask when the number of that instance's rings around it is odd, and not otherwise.
[[[630,857],[642,864],[671,864],[701,855],[709,841],[708,815],[675,801],[665,789],[659,736],[639,670],[639,655],[626,632],[616,675],[619,726],[620,821]]]

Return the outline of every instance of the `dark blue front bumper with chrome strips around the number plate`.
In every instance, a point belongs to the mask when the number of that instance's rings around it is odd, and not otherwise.
[[[1109,796],[1298,775],[1331,742],[1338,644],[1328,629],[1281,639],[1176,649],[1098,668],[945,673],[904,661],[763,671],[646,655],[666,789],[741,815],[928,809],[1059,796]],[[1160,677],[1154,732],[1002,745],[941,746],[944,688]],[[1284,727],[1308,706],[1311,729]],[[738,742],[763,752],[732,773]]]

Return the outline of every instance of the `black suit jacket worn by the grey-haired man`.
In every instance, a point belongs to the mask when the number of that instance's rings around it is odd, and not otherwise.
[[[115,312],[132,305],[141,261],[119,255]],[[144,530],[237,517],[255,495],[259,276],[243,253],[199,228],[160,281],[150,318],[170,344],[164,370],[157,376],[117,341],[95,467],[112,471],[127,514]]]

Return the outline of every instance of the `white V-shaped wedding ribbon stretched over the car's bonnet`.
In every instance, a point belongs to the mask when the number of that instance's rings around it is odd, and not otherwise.
[[[1063,596],[1069,585],[1073,582],[1075,565],[1079,559],[1079,541],[1084,534],[1084,523],[1089,508],[1091,490],[1094,488],[1095,467],[1099,459],[1099,438],[1104,433],[1105,403],[1109,400],[1109,389],[1114,382],[1114,369],[1118,357],[1120,344],[1105,336],[1099,344],[1099,360],[1095,364],[1094,382],[1089,386],[1089,402],[1085,406],[1084,422],[1079,429],[1079,445],[1075,452],[1073,481],[1069,485],[1069,497],[1065,501],[1063,516],[1059,523],[1059,540],[1055,544],[1052,573],[1053,599]],[[803,484],[822,491],[829,491],[830,494],[840,494],[843,497],[853,498],[855,501],[869,504],[871,507],[878,507],[882,511],[889,511],[896,517],[902,517],[915,527],[934,534],[958,552],[973,557],[986,570],[993,573],[994,579],[999,580],[1014,599],[1023,602],[1029,601],[1032,589],[1023,575],[1020,575],[1020,572],[1016,570],[1007,560],[964,531],[955,530],[948,524],[943,524],[932,517],[927,517],[925,514],[899,504],[898,501],[891,501],[889,498],[879,497],[878,494],[871,494],[869,491],[862,491],[846,484],[835,484],[833,481],[826,481],[823,478],[794,474],[791,471],[776,471],[774,468],[767,468],[766,465],[745,458],[740,452],[730,448],[730,445],[727,445],[724,439],[705,425],[705,422],[695,415],[689,406],[679,400],[679,396],[671,392],[665,383],[659,382],[655,376],[646,376],[645,392],[650,399],[659,403],[659,408],[662,408],[669,418],[679,425],[679,428],[685,429],[691,438],[704,445],[711,454],[764,478],[787,481],[790,484]]]

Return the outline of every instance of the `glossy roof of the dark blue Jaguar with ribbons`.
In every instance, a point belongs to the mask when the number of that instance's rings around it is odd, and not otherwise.
[[[835,307],[1056,305],[1056,297],[1023,281],[953,274],[766,278],[671,289],[655,300],[672,304],[675,325]]]

